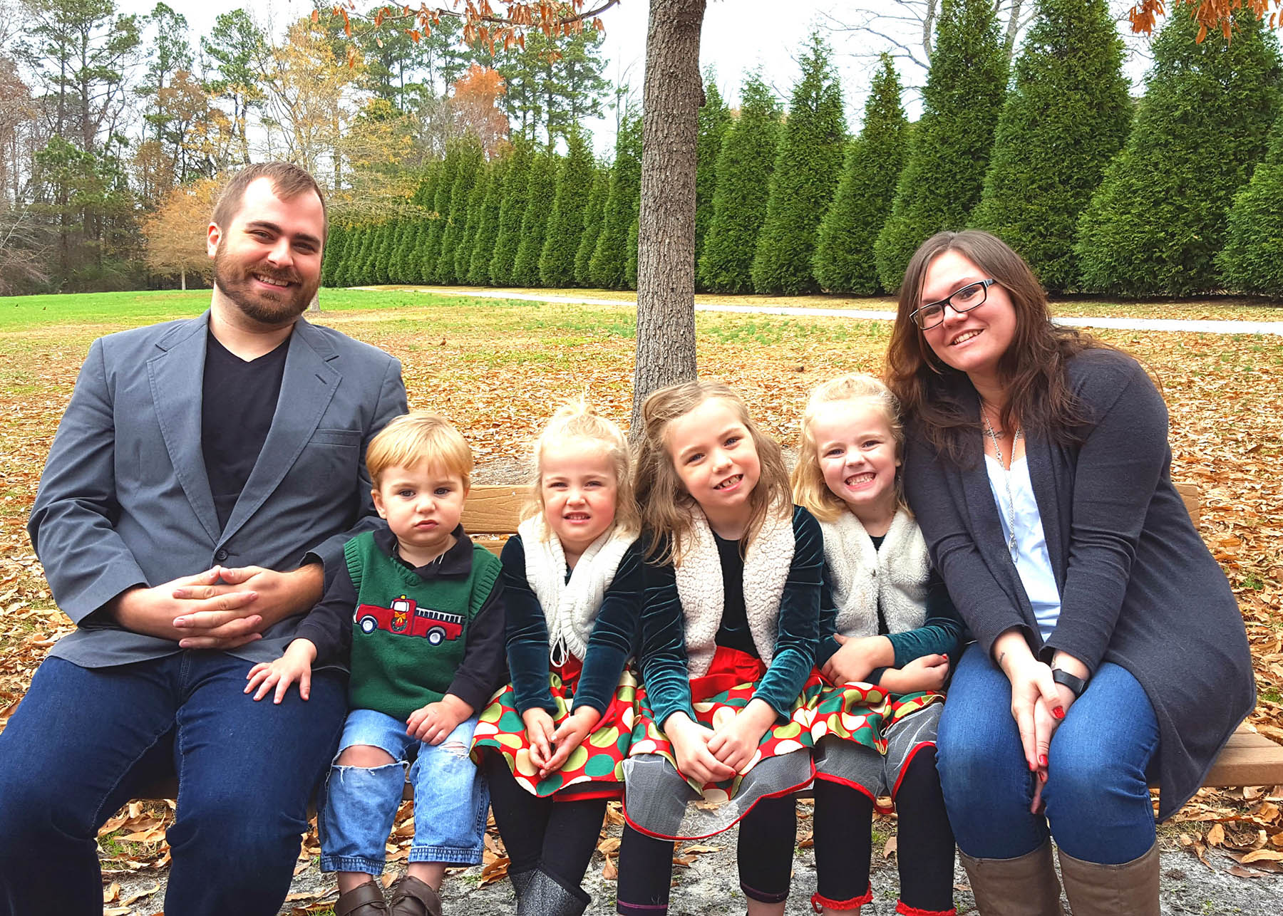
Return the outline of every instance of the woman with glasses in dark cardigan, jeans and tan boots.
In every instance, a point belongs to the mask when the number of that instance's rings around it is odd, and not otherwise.
[[[905,485],[975,643],[939,726],[984,916],[1159,913],[1159,817],[1252,708],[1243,620],[1169,476],[1132,357],[1049,321],[999,239],[940,232],[899,293],[889,384]]]

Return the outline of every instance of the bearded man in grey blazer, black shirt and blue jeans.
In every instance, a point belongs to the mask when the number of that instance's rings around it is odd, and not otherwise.
[[[98,829],[178,777],[166,911],[276,913],[334,753],[345,676],[307,700],[242,694],[375,522],[363,455],[405,412],[400,364],[300,317],[321,189],[251,165],[209,223],[199,318],[96,340],[28,531],[76,623],[0,733],[0,913],[101,913]]]

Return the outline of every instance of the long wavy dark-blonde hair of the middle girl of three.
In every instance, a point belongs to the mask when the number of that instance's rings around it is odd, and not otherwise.
[[[633,471],[633,489],[642,509],[642,530],[650,534],[647,552],[656,554],[663,539],[670,539],[668,548],[661,556],[652,557],[659,563],[681,563],[694,521],[693,512],[698,507],[695,499],[681,485],[677,470],[672,466],[667,441],[668,426],[709,398],[720,398],[731,407],[735,418],[752,436],[762,468],[757,486],[748,496],[753,514],[742,544],[747,547],[757,536],[769,511],[792,505],[789,472],[784,466],[780,446],[748,416],[743,398],[726,385],[715,381],[692,381],[659,389],[642,405],[644,426]]]

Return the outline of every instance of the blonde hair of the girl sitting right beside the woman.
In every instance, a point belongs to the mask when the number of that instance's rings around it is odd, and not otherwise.
[[[896,440],[896,457],[903,458],[905,454],[905,425],[899,418],[899,400],[881,381],[872,376],[849,373],[817,385],[802,412],[802,441],[798,448],[798,463],[793,468],[793,502],[824,522],[839,518],[847,511],[847,504],[824,482],[819,445],[811,431],[811,422],[821,405],[848,400],[863,402],[876,408],[887,420],[887,427]],[[901,491],[898,472],[896,504],[899,508],[908,508]]]

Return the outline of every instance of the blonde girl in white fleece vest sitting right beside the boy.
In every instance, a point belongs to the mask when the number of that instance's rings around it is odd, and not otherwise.
[[[577,916],[606,813],[622,790],[642,603],[629,446],[584,403],[534,449],[532,512],[503,548],[512,683],[473,744],[512,860],[521,916]]]

